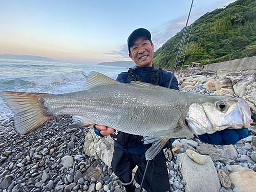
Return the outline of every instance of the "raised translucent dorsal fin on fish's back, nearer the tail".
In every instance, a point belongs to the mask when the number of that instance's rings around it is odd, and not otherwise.
[[[92,71],[91,73],[89,73],[86,84],[84,84],[83,89],[90,89],[92,87],[103,86],[105,84],[121,84],[121,83],[101,73]]]

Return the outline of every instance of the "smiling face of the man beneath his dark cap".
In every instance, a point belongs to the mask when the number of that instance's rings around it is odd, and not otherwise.
[[[130,47],[129,57],[133,59],[138,67],[152,67],[154,56],[154,45],[146,36],[138,37]]]

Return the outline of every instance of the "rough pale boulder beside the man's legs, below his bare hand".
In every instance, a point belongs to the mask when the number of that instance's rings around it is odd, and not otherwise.
[[[94,159],[101,159],[106,165],[111,167],[114,152],[114,141],[111,137],[99,137],[90,129],[84,139],[84,153]]]

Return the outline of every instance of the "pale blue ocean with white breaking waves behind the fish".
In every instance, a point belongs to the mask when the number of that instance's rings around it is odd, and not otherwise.
[[[67,93],[81,91],[91,71],[116,79],[124,67],[83,65],[67,62],[0,59],[0,91]],[[0,121],[13,113],[0,97]]]

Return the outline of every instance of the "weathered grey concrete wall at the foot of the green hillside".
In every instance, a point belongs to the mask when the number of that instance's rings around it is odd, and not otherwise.
[[[256,56],[212,63],[204,66],[204,70],[216,71],[220,79],[227,73],[251,74],[256,72]]]

